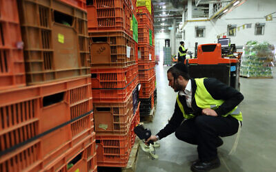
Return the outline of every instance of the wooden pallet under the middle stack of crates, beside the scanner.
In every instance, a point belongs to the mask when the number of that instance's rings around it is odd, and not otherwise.
[[[135,172],[137,158],[138,158],[138,151],[139,151],[139,138],[135,138],[135,144],[133,145],[130,151],[130,158],[128,159],[128,164],[124,168],[119,167],[103,167],[98,166],[98,172]]]

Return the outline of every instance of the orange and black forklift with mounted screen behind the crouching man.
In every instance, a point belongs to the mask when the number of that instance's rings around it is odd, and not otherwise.
[[[201,44],[197,58],[186,59],[192,78],[217,78],[237,90],[239,84],[239,59],[233,56],[235,44],[230,39],[218,39],[218,43]]]

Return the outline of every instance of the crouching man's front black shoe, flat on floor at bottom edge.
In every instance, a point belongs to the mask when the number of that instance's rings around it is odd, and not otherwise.
[[[203,172],[203,171],[210,171],[211,169],[215,169],[220,166],[219,158],[215,160],[211,160],[210,162],[197,162],[190,166],[190,170],[194,172]]]

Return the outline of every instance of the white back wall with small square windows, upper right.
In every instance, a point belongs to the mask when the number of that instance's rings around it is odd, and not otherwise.
[[[217,35],[227,32],[228,24],[240,26],[247,23],[252,23],[251,28],[240,28],[240,30],[236,32],[236,36],[228,36],[231,39],[231,43],[235,43],[236,46],[239,46],[244,45],[247,41],[256,40],[261,42],[268,41],[276,45],[275,14],[273,15],[273,21],[266,21],[264,18],[267,14],[275,12],[275,9],[275,0],[247,0],[232,12],[221,17],[221,19],[188,22],[184,27],[186,47],[194,51],[195,42],[199,44],[217,43]],[[191,19],[189,14],[188,12],[188,19]],[[255,35],[255,23],[265,23],[264,35]],[[206,27],[204,38],[195,37],[195,26]]]

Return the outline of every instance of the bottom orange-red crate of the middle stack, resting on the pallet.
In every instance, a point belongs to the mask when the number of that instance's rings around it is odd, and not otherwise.
[[[126,167],[131,151],[130,129],[124,136],[96,135],[97,165]]]

